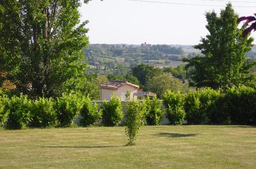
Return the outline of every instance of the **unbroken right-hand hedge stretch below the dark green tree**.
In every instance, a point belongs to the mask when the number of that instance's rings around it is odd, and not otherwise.
[[[231,88],[226,94],[204,89],[180,94],[164,94],[170,124],[256,124],[256,90],[249,87]]]

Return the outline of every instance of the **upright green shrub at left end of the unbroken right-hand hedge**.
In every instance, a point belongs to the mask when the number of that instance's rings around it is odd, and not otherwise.
[[[183,109],[184,95],[180,92],[168,90],[163,95],[163,104],[170,124],[182,124],[185,117],[185,111]]]

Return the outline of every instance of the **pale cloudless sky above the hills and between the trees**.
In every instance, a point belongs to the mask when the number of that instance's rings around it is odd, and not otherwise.
[[[195,45],[207,35],[205,12],[218,14],[229,2],[226,0],[141,0],[160,4],[129,0],[93,0],[79,8],[81,21],[89,20],[91,44],[180,44]],[[242,1],[243,3],[239,3]],[[251,16],[256,12],[256,0],[230,1],[239,16]],[[251,2],[251,3],[249,3]],[[196,6],[203,5],[203,6]],[[204,6],[206,5],[206,6]],[[223,7],[217,7],[223,6]],[[254,7],[254,8],[251,8]],[[256,39],[256,32],[251,33]],[[253,42],[256,44],[256,40]]]

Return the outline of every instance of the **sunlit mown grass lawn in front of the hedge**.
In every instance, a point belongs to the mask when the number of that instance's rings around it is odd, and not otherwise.
[[[145,126],[0,131],[0,168],[255,168],[255,126]]]

